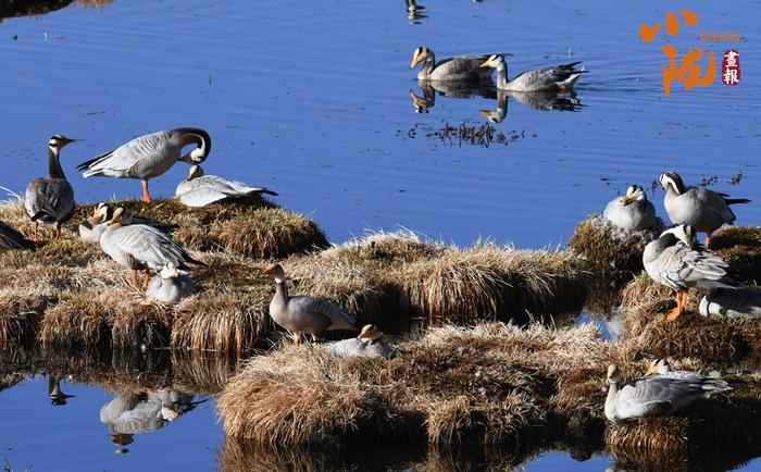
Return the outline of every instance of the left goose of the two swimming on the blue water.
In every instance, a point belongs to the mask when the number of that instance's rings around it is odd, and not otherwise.
[[[423,69],[417,73],[419,80],[456,80],[456,82],[485,82],[491,80],[491,71],[481,69],[489,54],[458,55],[436,62],[434,51],[426,47],[420,47],[412,53],[410,69],[423,62]]]

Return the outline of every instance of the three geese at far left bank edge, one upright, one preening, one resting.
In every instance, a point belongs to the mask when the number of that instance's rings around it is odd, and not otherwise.
[[[26,188],[24,207],[34,223],[38,239],[39,224],[54,224],[54,238],[61,237],[61,225],[74,214],[74,190],[61,166],[61,150],[75,139],[54,135],[48,141],[48,176],[32,181]],[[195,145],[189,152],[183,150]],[[216,175],[204,175],[200,163],[211,151],[211,137],[201,128],[180,127],[139,136],[118,148],[77,166],[85,178],[105,176],[137,178],[142,183],[142,199],[151,201],[148,181],[165,173],[176,162],[191,164],[187,179],[179,183],[176,197],[188,207],[203,207],[215,201],[245,198],[253,194],[277,195],[265,187],[255,187]]]

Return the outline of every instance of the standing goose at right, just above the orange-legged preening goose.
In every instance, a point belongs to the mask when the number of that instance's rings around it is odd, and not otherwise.
[[[660,176],[665,189],[663,204],[674,224],[688,224],[699,233],[706,233],[706,246],[711,245],[711,234],[724,223],[733,224],[735,213],[729,208],[735,203],[749,203],[747,198],[727,198],[727,194],[703,187],[686,187],[679,174],[673,171]]]

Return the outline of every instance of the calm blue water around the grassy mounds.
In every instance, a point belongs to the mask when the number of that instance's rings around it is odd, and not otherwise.
[[[63,151],[79,201],[138,196],[137,182],[85,181],[74,166],[144,133],[199,125],[214,139],[208,173],[276,189],[279,203],[310,214],[336,243],[367,228],[404,226],[461,245],[479,237],[564,245],[586,214],[629,183],[648,187],[666,169],[687,183],[716,176],[713,188],[761,201],[759,1],[421,3],[427,17],[419,24],[408,21],[401,0],[116,0],[7,18],[0,23],[0,185],[21,192],[43,175],[47,139],[62,133],[85,139]],[[672,96],[663,96],[658,46],[666,36],[646,45],[638,25],[684,8],[699,24],[671,39],[681,53],[699,44],[701,32],[747,38],[701,45],[718,54],[740,51],[738,87],[716,80],[686,92],[674,83]],[[507,146],[459,146],[426,135],[445,123],[481,126],[479,112],[498,108],[496,94],[439,95],[427,113],[416,113],[410,92],[424,90],[409,62],[421,45],[439,57],[510,52],[511,75],[571,61],[591,72],[577,85],[575,112],[539,111],[509,98],[495,123],[498,133],[514,136]],[[173,195],[186,172],[177,165],[152,181],[152,192]],[[741,181],[731,185],[738,173]],[[651,196],[665,214],[662,190]],[[761,221],[759,204],[736,213],[743,223]],[[114,394],[64,385],[76,395],[65,407],[49,405],[40,378],[0,393],[0,455],[14,469],[215,467],[222,432],[213,400],[137,435],[129,454],[115,455],[99,421]],[[604,456],[577,462],[547,452],[526,468],[611,463]]]

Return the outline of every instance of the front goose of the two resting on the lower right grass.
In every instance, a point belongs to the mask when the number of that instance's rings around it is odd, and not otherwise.
[[[604,411],[606,418],[613,422],[671,414],[702,396],[732,389],[721,378],[702,375],[699,378],[654,375],[622,385],[623,377],[615,364],[608,368],[608,383]]]

